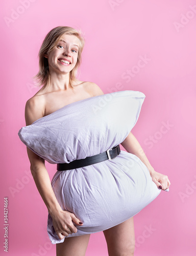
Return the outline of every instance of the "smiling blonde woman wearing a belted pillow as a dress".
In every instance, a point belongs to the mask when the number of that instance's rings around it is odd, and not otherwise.
[[[84,39],[80,32],[70,27],[57,27],[46,35],[39,52],[40,71],[36,76],[43,87],[26,103],[27,126],[67,104],[104,94],[95,83],[76,79],[83,47]],[[166,175],[155,172],[132,133],[121,145],[146,165],[157,187],[165,190],[170,186]],[[27,152],[31,173],[48,213],[52,217],[54,229],[59,239],[66,238],[63,243],[56,244],[57,256],[85,255],[90,234],[67,238],[69,234],[77,232],[74,223],[78,226],[82,226],[83,223],[74,213],[61,208],[44,160],[28,147]],[[135,244],[133,217],[103,232],[109,255],[133,255]]]

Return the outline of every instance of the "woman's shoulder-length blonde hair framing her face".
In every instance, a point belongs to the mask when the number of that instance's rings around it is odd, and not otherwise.
[[[47,61],[47,58],[44,57],[44,55],[49,54],[55,48],[55,46],[57,45],[59,39],[63,34],[75,35],[80,40],[80,47],[78,51],[78,59],[77,59],[76,66],[74,67],[74,69],[72,69],[69,72],[69,84],[71,88],[74,88],[73,86],[74,86],[74,81],[76,81],[77,71],[82,62],[81,54],[84,48],[85,39],[82,36],[81,30],[77,30],[71,27],[63,27],[63,26],[56,27],[52,29],[50,32],[48,32],[42,42],[41,48],[38,53],[39,72],[37,73],[37,75],[33,77],[37,86],[43,86],[43,88],[46,88],[50,83],[50,72],[48,69],[48,61]]]

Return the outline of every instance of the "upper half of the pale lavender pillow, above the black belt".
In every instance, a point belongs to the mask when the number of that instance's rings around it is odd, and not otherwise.
[[[21,141],[50,163],[102,153],[125,140],[145,95],[119,91],[80,100],[22,127]]]

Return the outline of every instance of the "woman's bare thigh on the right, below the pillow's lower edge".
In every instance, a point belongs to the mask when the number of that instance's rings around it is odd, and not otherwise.
[[[109,256],[133,256],[135,233],[133,217],[103,231]]]

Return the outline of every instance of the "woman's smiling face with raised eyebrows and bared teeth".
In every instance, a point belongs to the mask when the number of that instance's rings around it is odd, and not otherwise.
[[[51,71],[69,73],[76,66],[80,40],[75,35],[64,34],[59,39],[54,49],[45,57]]]

